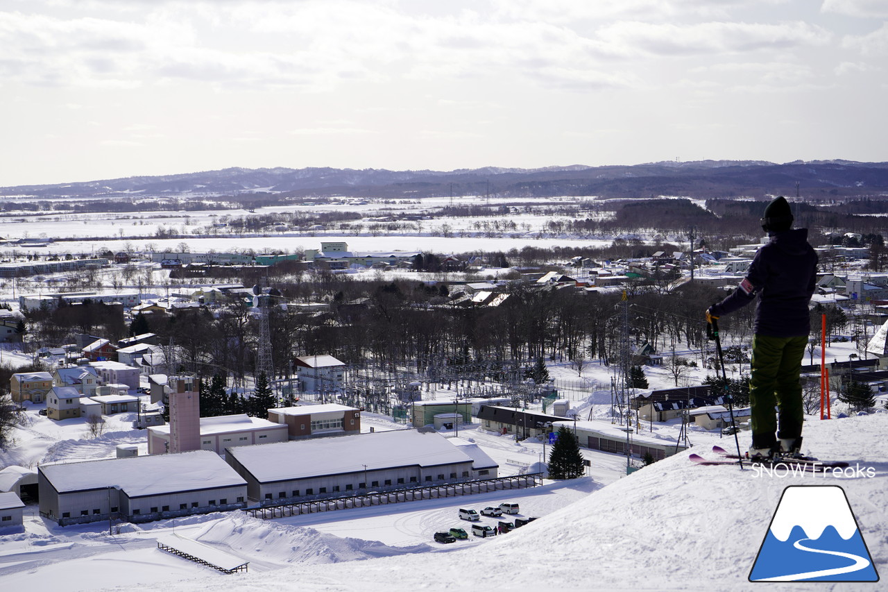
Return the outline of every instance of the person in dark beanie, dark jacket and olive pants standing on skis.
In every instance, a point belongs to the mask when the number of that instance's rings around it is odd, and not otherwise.
[[[811,331],[808,302],[814,292],[817,254],[808,244],[807,228],[791,229],[793,220],[783,196],[767,205],[762,229],[770,240],[758,250],[738,288],[706,311],[711,323],[758,296],[749,380],[753,459],[798,454],[802,445],[799,374]]]

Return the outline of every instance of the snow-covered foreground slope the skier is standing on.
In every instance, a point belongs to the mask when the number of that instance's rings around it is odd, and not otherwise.
[[[781,492],[788,485],[823,484],[843,487],[876,569],[888,572],[886,431],[888,413],[806,423],[803,451],[848,460],[851,467],[842,476],[783,472],[769,476],[751,468],[702,467],[686,460],[685,452],[471,548],[448,545],[432,553],[299,564],[272,572],[180,581],[164,585],[163,590],[761,589],[761,584],[747,578]],[[742,435],[741,446],[749,445],[748,438],[748,433]],[[700,447],[695,452],[700,453]],[[867,468],[874,476],[865,476]],[[243,530],[235,536],[216,526],[203,532],[201,540],[236,548],[245,545],[244,537],[255,536],[261,545],[260,540],[274,535],[273,527],[255,533]],[[811,589],[810,583],[768,586]],[[877,583],[817,586],[879,589]]]

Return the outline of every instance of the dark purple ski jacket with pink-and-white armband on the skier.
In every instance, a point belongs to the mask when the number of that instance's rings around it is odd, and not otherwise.
[[[713,316],[730,315],[758,295],[757,335],[798,337],[811,331],[808,302],[817,279],[817,253],[808,244],[808,229],[775,232],[758,250],[746,277],[718,304]]]

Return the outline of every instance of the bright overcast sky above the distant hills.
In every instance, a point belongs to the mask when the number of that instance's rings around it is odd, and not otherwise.
[[[888,161],[885,0],[0,0],[0,186]]]

